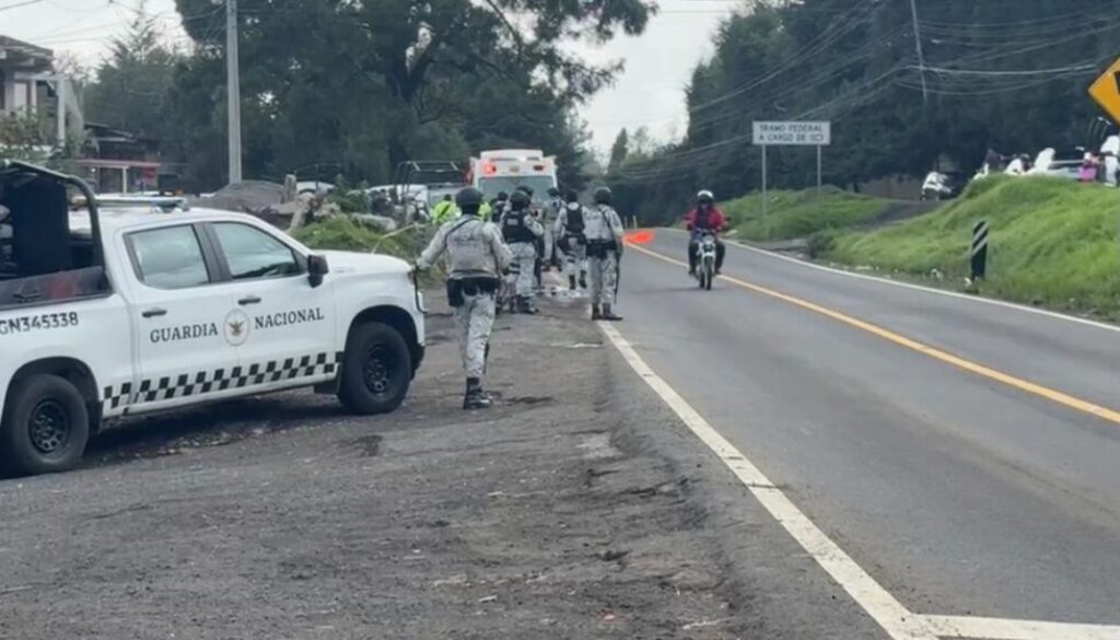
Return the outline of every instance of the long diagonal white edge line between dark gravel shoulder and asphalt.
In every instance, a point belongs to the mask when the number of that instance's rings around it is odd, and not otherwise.
[[[805,551],[840,585],[868,615],[895,640],[936,640],[925,619],[911,613],[900,602],[865,572],[843,549],[824,535],[808,516],[752,463],[747,456],[719,434],[668,382],[642,360],[615,327],[599,323],[599,328],[615,345],[634,372],[676,414],[731,470],[747,490],[777,520]]]

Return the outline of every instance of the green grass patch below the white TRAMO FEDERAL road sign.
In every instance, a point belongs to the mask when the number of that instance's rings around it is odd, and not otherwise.
[[[769,242],[809,238],[815,233],[850,229],[881,215],[892,201],[828,187],[815,191],[769,192],[768,211],[762,212],[762,196],[749,194],[720,207],[731,219],[739,238]]]

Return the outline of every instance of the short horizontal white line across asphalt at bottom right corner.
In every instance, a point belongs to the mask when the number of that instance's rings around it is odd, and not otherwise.
[[[930,629],[943,638],[981,640],[1120,640],[1120,627],[1072,624],[1001,618],[925,615]]]

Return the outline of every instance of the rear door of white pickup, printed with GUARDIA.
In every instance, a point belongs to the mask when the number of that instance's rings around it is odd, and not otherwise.
[[[129,412],[233,396],[244,387],[236,303],[218,285],[204,228],[184,223],[125,233],[138,378]]]

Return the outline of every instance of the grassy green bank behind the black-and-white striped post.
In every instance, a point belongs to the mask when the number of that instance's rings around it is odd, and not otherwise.
[[[948,282],[969,272],[973,224],[990,225],[989,296],[1120,319],[1120,193],[1057,178],[992,177],[894,226],[832,239],[828,260]]]

